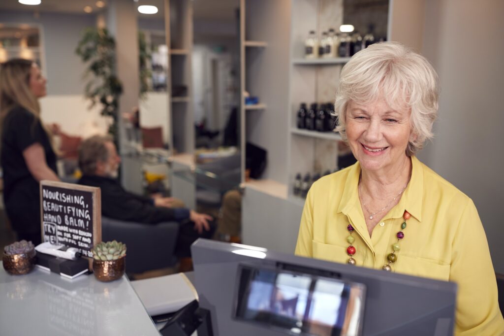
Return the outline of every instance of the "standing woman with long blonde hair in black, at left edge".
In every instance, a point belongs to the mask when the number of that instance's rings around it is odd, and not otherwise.
[[[39,182],[59,180],[51,136],[40,119],[45,84],[32,61],[14,59],[0,67],[4,204],[18,239],[35,245],[41,241]]]

